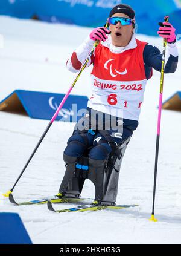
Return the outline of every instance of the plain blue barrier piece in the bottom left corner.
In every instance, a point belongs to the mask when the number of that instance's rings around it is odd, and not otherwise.
[[[32,244],[19,214],[0,213],[0,244]]]

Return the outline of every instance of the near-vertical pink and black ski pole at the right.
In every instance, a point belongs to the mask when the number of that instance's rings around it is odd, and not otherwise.
[[[165,16],[164,20],[168,22],[169,16]],[[161,114],[162,114],[162,96],[163,96],[163,88],[164,88],[164,70],[165,70],[165,53],[167,47],[167,39],[163,40],[163,53],[162,53],[162,69],[161,69],[161,77],[160,77],[160,96],[159,96],[159,111],[158,111],[158,119],[157,119],[157,136],[156,136],[156,153],[155,153],[155,163],[154,163],[154,185],[153,185],[153,206],[151,212],[150,220],[152,222],[157,222],[157,219],[154,218],[154,202],[155,202],[155,194],[156,194],[156,177],[157,177],[157,162],[159,156],[159,140],[160,140],[160,124],[161,124]]]

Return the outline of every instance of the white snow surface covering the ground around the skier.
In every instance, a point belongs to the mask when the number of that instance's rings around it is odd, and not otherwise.
[[[75,74],[66,70],[69,55],[90,28],[47,24],[0,16],[0,101],[16,89],[66,93]],[[2,38],[2,36],[1,36]],[[157,37],[138,34],[162,49]],[[179,51],[181,52],[180,42]],[[180,68],[165,75],[164,100],[180,90]],[[89,95],[87,68],[72,94]],[[181,113],[163,110],[155,216],[151,215],[157,105],[160,73],[148,81],[139,127],[122,162],[117,204],[136,208],[120,211],[49,212],[46,205],[14,206],[0,199],[1,212],[18,212],[33,243],[180,243],[181,242]],[[0,112],[0,191],[13,186],[48,121]],[[54,122],[45,140],[14,189],[18,201],[54,195],[65,172],[62,155],[74,123]],[[94,197],[94,185],[86,180],[83,197]],[[66,208],[71,204],[59,205]],[[58,208],[56,205],[55,208]]]

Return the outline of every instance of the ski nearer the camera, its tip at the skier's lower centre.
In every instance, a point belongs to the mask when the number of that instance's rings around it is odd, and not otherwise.
[[[84,211],[97,211],[97,210],[103,210],[103,209],[125,209],[130,207],[135,207],[138,205],[79,205],[72,208],[67,209],[61,209],[61,210],[55,210],[52,206],[52,203],[48,201],[47,203],[49,211],[53,212],[84,212]]]

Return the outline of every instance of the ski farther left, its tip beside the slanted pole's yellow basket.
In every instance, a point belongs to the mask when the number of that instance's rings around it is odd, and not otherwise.
[[[57,197],[56,195],[54,197],[45,197],[42,199],[36,199],[36,200],[30,200],[27,202],[16,202],[14,200],[13,194],[11,193],[9,195],[9,200],[11,203],[14,205],[43,205],[45,203],[51,202],[51,203],[75,203],[75,202],[81,202],[83,200],[94,200],[94,199],[86,199],[86,198],[81,198],[81,197]]]

